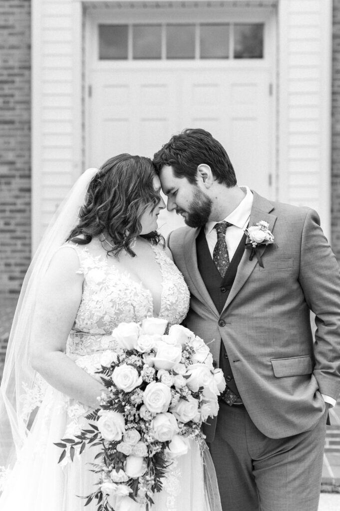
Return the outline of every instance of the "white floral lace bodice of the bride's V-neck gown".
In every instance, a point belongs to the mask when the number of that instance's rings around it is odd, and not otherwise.
[[[141,323],[153,315],[151,291],[138,283],[119,265],[110,265],[105,254],[91,253],[87,245],[68,246],[78,254],[84,275],[83,294],[77,316],[67,340],[67,353],[86,355],[114,348],[110,334],[119,323]],[[170,324],[180,323],[189,309],[189,290],[182,273],[165,250],[152,245],[162,274],[159,317]]]

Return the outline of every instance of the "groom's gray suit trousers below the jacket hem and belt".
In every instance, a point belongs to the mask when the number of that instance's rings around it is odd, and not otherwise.
[[[303,433],[268,438],[244,406],[221,402],[209,448],[223,511],[317,511],[326,417]]]

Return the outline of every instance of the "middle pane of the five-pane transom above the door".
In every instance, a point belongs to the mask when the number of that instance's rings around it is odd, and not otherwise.
[[[167,58],[168,59],[195,58],[194,25],[167,26]]]

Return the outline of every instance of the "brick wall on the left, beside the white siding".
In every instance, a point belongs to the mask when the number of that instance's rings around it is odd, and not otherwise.
[[[31,255],[30,8],[0,2],[0,293],[11,295]]]

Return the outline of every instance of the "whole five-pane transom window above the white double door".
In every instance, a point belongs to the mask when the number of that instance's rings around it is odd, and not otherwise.
[[[264,24],[98,25],[100,60],[262,59]]]

